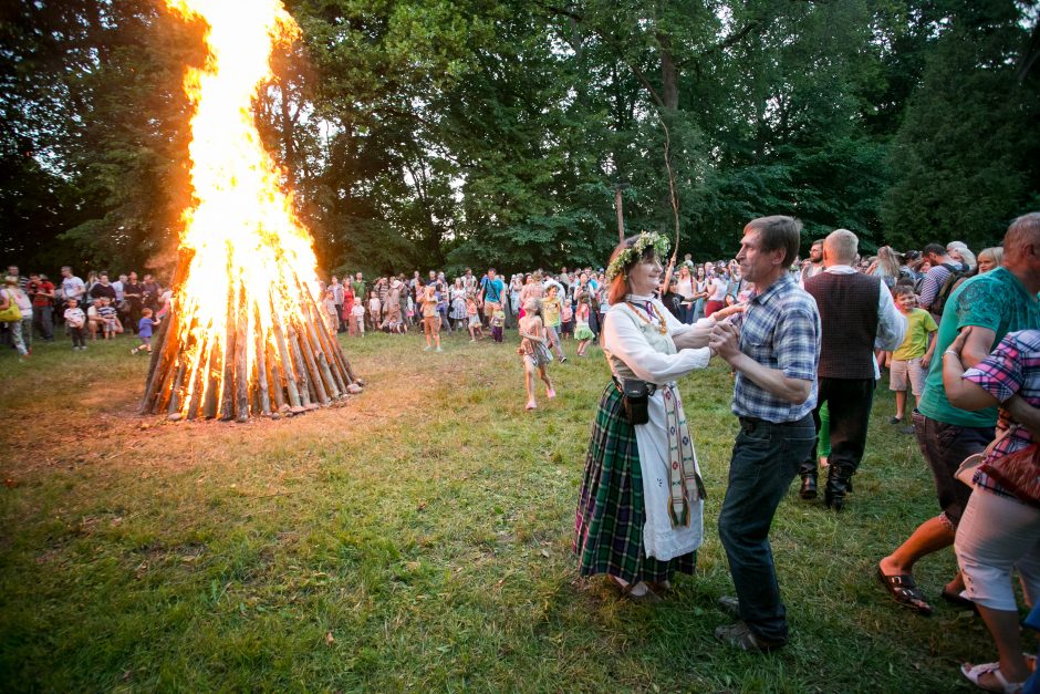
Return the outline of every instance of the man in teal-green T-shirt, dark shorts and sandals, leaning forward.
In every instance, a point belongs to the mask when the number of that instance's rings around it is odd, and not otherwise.
[[[966,280],[950,293],[939,321],[937,354],[946,351],[960,330],[970,327],[960,359],[966,367],[986,359],[997,343],[1012,331],[1040,328],[1040,213],[1022,215],[1011,222],[1003,237],[1003,265],[991,272]],[[1006,403],[1019,417],[1028,405],[1013,396]],[[969,455],[981,453],[994,439],[997,408],[968,412],[953,406],[943,387],[942,359],[933,360],[925,381],[918,412],[914,413],[917,445],[935,477],[943,512],[929,518],[895,551],[877,564],[882,584],[901,604],[923,614],[932,605],[914,582],[914,563],[954,543],[957,524],[971,489],[954,474]],[[1030,417],[1031,413],[1021,416]],[[961,604],[964,579],[958,573],[943,590],[948,602]],[[970,603],[968,603],[970,604]]]

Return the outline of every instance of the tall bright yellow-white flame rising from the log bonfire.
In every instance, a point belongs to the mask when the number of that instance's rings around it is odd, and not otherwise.
[[[209,56],[204,69],[189,69],[185,76],[196,108],[188,151],[195,203],[184,213],[180,283],[175,323],[168,328],[181,345],[175,360],[180,375],[163,402],[171,414],[212,416],[229,414],[229,398],[254,389],[261,376],[280,380],[294,367],[316,370],[318,364],[301,366],[300,341],[323,346],[321,356],[329,361],[339,344],[334,333],[330,341],[327,315],[318,310],[310,235],[261,144],[252,112],[258,90],[272,77],[274,42],[298,37],[299,27],[280,0],[166,3],[185,19],[207,24]],[[322,375],[315,370],[310,370],[312,380]],[[240,418],[239,400],[249,411],[259,407],[254,390],[235,400]]]

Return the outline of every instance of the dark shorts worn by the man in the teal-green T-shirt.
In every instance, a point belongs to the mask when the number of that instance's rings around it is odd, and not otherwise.
[[[986,449],[994,439],[995,427],[945,424],[929,419],[917,411],[914,411],[913,418],[921,455],[925,457],[932,468],[932,476],[935,477],[939,506],[956,528],[968,505],[971,488],[954,477],[954,474],[966,457]]]

